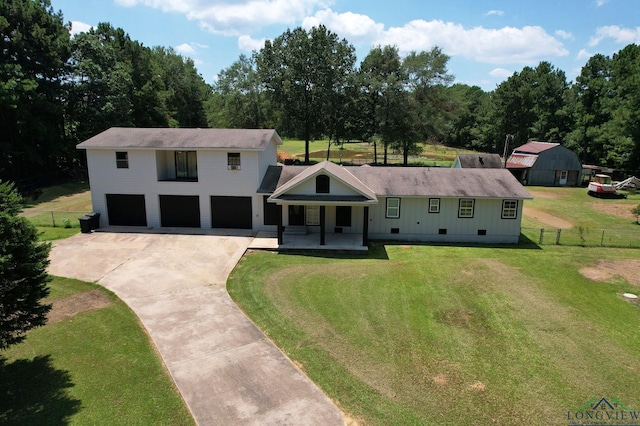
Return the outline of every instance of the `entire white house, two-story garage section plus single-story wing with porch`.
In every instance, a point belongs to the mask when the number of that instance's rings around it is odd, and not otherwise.
[[[275,130],[111,128],[87,153],[101,226],[517,243],[531,195],[506,169],[277,163]]]

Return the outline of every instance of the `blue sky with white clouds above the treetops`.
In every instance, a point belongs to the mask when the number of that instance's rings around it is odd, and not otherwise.
[[[51,0],[73,32],[99,22],[145,46],[173,47],[208,83],[287,28],[324,24],[355,48],[439,46],[455,82],[489,91],[548,61],[569,81],[596,53],[640,44],[640,0]]]

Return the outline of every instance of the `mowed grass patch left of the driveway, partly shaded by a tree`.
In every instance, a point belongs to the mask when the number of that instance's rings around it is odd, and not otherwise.
[[[122,301],[100,286],[54,277],[47,302],[92,290],[110,304],[34,329],[0,352],[0,424],[194,424]]]

